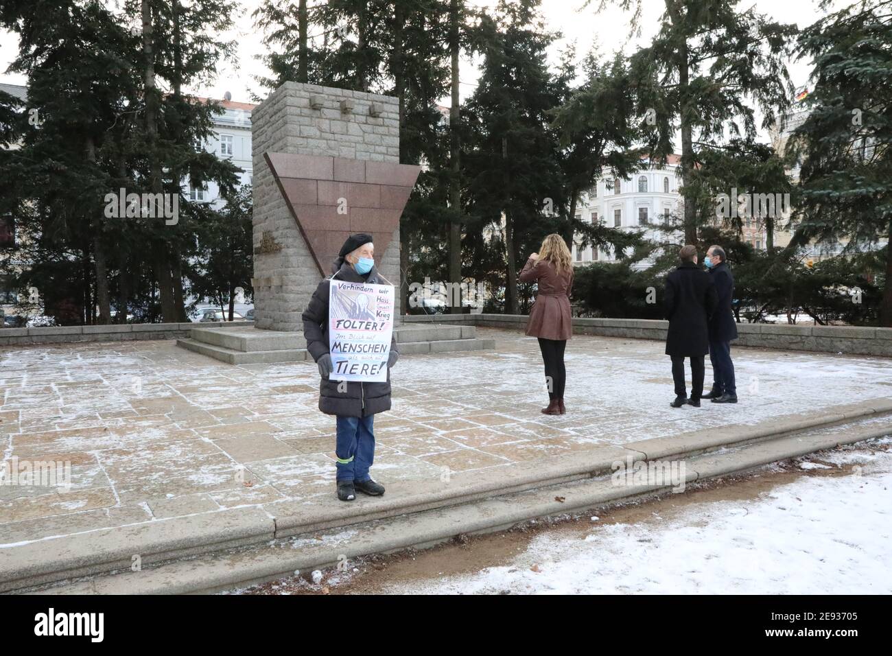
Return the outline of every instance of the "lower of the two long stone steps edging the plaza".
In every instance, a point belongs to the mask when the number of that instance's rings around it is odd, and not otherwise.
[[[833,419],[828,416],[826,419]],[[863,418],[862,418],[863,419]],[[721,477],[756,469],[776,461],[785,461],[808,453],[832,449],[839,444],[855,444],[863,440],[888,435],[892,431],[892,417],[873,422],[853,421],[828,429],[816,423],[813,428],[789,433],[780,431],[764,436],[764,441],[733,444],[733,437],[724,448],[703,453],[703,444],[675,439],[674,446],[665,451],[685,463],[686,483],[711,477]],[[832,424],[831,424],[832,426]],[[644,455],[640,453],[640,455]],[[578,455],[574,455],[578,457]],[[647,461],[663,459],[647,458]],[[531,463],[535,465],[535,463]],[[611,468],[613,469],[613,468]],[[606,467],[583,477],[542,477],[539,485],[508,488],[500,480],[501,489],[484,491],[464,499],[431,505],[430,498],[417,499],[417,507],[382,514],[370,511],[373,517],[340,525],[297,530],[289,533],[266,528],[255,543],[236,548],[209,550],[187,560],[161,562],[142,571],[131,571],[121,566],[118,573],[80,580],[70,580],[54,587],[37,587],[32,594],[188,594],[212,593],[234,587],[255,585],[282,577],[293,576],[295,570],[309,572],[340,564],[373,553],[397,552],[407,548],[426,548],[464,534],[486,534],[505,530],[530,519],[566,516],[567,513],[590,511],[630,501],[643,502],[660,494],[670,494],[672,485],[645,481],[617,484]],[[388,494],[397,492],[399,484],[392,484]],[[386,500],[388,497],[383,497]],[[376,501],[381,505],[380,500]],[[369,502],[371,503],[371,502]],[[379,519],[375,519],[377,516]],[[350,526],[350,536],[343,537],[344,526]],[[241,530],[241,533],[239,532]],[[269,531],[274,538],[268,539]],[[241,536],[245,527],[229,527],[228,538]],[[280,536],[281,535],[281,536]],[[294,548],[289,538],[301,536],[301,548]],[[315,539],[311,539],[315,538]],[[250,539],[250,538],[249,538]],[[122,554],[133,548],[121,550]],[[123,556],[122,556],[123,558]],[[126,560],[122,561],[125,563]],[[145,563],[145,561],[144,561]],[[59,577],[61,577],[61,574]],[[33,575],[32,575],[33,576]],[[31,580],[34,580],[33,578]],[[57,579],[58,580],[58,579]],[[23,577],[12,588],[27,587],[29,577]]]

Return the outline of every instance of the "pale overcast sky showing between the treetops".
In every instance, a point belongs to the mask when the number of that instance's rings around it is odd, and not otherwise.
[[[113,4],[113,0],[110,2]],[[266,91],[254,81],[254,76],[266,73],[266,67],[257,59],[257,55],[265,50],[260,42],[261,34],[254,29],[251,18],[260,2],[243,0],[240,3],[241,16],[236,21],[238,27],[224,37],[235,39],[238,44],[237,65],[221,65],[218,79],[208,86],[191,89],[194,94],[221,98],[224,92],[229,91],[233,100],[244,102],[250,102],[252,94],[265,95]],[[320,0],[310,0],[310,5],[318,2]],[[490,7],[495,6],[496,0],[473,0],[473,4]],[[557,62],[558,51],[570,42],[575,42],[578,56],[596,44],[603,54],[612,54],[617,50],[631,54],[637,47],[646,45],[657,33],[657,20],[664,7],[663,0],[642,0],[641,36],[630,38],[631,14],[620,10],[616,6],[618,3],[610,4],[605,12],[600,13],[593,8],[597,6],[597,0],[588,8],[581,9],[582,4],[584,0],[544,0],[542,3],[542,14],[549,29],[564,35],[550,53],[552,62]],[[797,23],[800,28],[822,15],[817,5],[818,0],[744,0],[739,4],[742,9],[755,6],[757,12],[767,14],[776,21]],[[15,35],[0,33],[0,82],[24,84],[24,76],[5,72],[15,58],[17,48]],[[475,63],[469,60],[461,62],[462,97],[474,92],[478,77]],[[810,71],[808,62],[789,62],[789,71],[797,87],[805,86]]]

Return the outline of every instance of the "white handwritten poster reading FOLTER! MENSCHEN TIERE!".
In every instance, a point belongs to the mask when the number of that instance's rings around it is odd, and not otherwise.
[[[393,286],[329,282],[328,350],[334,367],[329,378],[386,381],[395,308]]]

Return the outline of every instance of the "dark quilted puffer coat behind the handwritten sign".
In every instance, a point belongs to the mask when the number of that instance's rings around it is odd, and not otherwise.
[[[384,279],[378,276],[376,267],[366,276],[360,276],[347,262],[338,268],[332,268],[332,278],[346,280],[347,282],[368,282],[373,285],[386,285]],[[313,292],[307,309],[301,315],[303,320],[303,336],[307,340],[307,351],[314,361],[328,353],[328,295],[330,293],[329,279],[325,278],[319,283]],[[396,351],[396,333],[391,338],[391,350]],[[338,386],[346,386],[343,392],[338,392]],[[387,380],[381,383],[343,382],[322,378],[319,382],[319,410],[326,414],[341,415],[344,417],[368,417],[370,414],[388,411],[391,408],[390,369],[387,370]]]

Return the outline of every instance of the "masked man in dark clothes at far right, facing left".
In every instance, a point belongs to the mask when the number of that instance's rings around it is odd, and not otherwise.
[[[728,268],[722,246],[713,245],[703,261],[709,270],[719,304],[709,320],[709,361],[713,364],[713,388],[704,398],[713,403],[737,403],[734,383],[734,362],[731,361],[731,340],[737,339],[737,321],[731,311],[734,296],[734,275]]]

